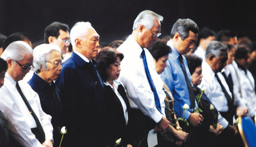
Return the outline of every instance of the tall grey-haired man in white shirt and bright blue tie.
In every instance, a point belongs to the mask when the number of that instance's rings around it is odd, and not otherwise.
[[[166,131],[170,123],[164,114],[163,83],[146,49],[160,35],[162,20],[163,17],[155,12],[142,11],[134,21],[131,35],[117,48],[125,56],[119,80],[127,89],[132,108],[130,125],[134,145],[138,145],[150,129]]]

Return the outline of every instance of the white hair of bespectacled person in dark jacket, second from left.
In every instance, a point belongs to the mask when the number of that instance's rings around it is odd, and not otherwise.
[[[58,51],[60,53],[60,47],[52,44],[42,44],[36,46],[34,49],[34,71],[36,73],[41,72],[40,68],[43,67],[45,70],[49,70],[47,68],[47,60],[51,59],[52,51]]]

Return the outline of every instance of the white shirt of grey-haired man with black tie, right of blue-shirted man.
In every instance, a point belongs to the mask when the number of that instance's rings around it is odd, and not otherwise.
[[[202,63],[202,70],[203,78],[199,88],[206,88],[205,94],[218,111],[227,112],[229,110],[228,101],[226,100],[224,92],[222,92],[221,85],[218,83],[212,68],[210,68],[209,64],[205,62],[205,60]],[[220,72],[218,72],[218,77],[221,81],[225,81],[225,78]],[[226,84],[226,82],[222,82],[222,85],[224,85],[229,96],[232,97],[232,93],[229,91],[228,84]],[[228,126],[228,121],[225,118],[222,118],[221,115],[218,115],[218,123],[220,123],[223,128]]]

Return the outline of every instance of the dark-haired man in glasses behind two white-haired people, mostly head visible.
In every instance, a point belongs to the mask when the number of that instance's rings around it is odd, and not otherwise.
[[[70,44],[69,28],[67,24],[57,21],[49,24],[44,30],[44,42],[60,47],[61,58],[67,60],[70,55],[66,54]]]

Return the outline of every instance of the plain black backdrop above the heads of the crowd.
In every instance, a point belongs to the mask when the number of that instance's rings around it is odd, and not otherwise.
[[[170,34],[179,18],[190,18],[200,28],[231,29],[256,40],[254,1],[225,0],[0,0],[0,33],[22,32],[32,44],[43,41],[44,28],[53,21],[69,25],[89,21],[100,34],[100,44],[125,40],[139,12],[152,10],[164,17],[162,36]]]

